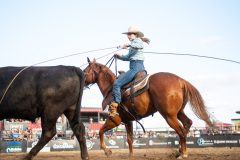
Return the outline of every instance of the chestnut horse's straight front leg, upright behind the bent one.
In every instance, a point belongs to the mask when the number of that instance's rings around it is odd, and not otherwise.
[[[128,122],[125,124],[126,131],[127,131],[127,142],[129,148],[129,158],[133,156],[133,122]]]

